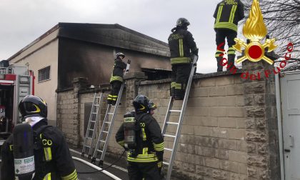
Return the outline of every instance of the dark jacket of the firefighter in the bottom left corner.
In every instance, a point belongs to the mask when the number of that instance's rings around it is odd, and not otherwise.
[[[77,180],[74,161],[64,135],[54,126],[46,126],[46,119],[34,125],[34,180]],[[14,180],[13,136],[1,148],[1,180]]]

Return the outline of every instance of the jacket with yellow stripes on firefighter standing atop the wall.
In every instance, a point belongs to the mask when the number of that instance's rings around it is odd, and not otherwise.
[[[237,31],[238,22],[244,19],[244,4],[240,0],[223,0],[214,11],[214,29]]]

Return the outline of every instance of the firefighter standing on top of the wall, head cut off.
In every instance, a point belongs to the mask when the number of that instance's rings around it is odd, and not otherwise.
[[[216,62],[217,70],[223,71],[221,60],[223,59],[225,38],[228,45],[228,65],[227,71],[231,68],[235,68],[234,59],[236,57],[236,51],[232,47],[235,42],[234,38],[237,35],[237,25],[241,19],[244,19],[244,4],[240,0],[223,0],[216,6],[214,11],[214,30],[216,31]]]

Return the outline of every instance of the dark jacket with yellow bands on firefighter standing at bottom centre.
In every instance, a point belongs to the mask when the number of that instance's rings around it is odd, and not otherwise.
[[[157,121],[148,113],[136,114],[136,123],[140,128],[136,133],[136,149],[127,149],[127,161],[155,162],[162,161],[164,139]],[[116,141],[124,147],[124,125],[116,132]],[[124,147],[125,148],[125,147]]]

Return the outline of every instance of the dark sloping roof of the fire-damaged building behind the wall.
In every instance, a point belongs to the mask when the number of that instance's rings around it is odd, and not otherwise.
[[[86,24],[86,23],[59,23],[25,46],[8,60],[13,59],[21,52],[33,46],[44,37],[59,29],[58,38],[75,39],[122,49],[131,49],[159,56],[169,56],[169,45],[158,39],[141,34],[120,24]]]

